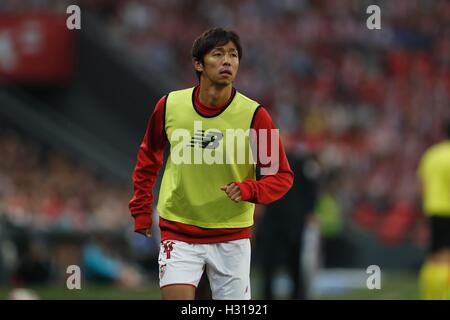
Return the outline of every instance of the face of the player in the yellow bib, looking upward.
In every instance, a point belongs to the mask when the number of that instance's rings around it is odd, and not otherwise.
[[[205,77],[214,84],[230,85],[236,78],[239,68],[239,54],[236,45],[228,43],[217,46],[209,51],[203,58],[203,65],[200,65],[202,77]]]

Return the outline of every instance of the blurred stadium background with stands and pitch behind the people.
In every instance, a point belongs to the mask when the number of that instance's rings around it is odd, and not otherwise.
[[[80,31],[65,28],[70,4]],[[371,4],[381,30],[366,27]],[[450,113],[445,0],[1,0],[0,298],[159,298],[157,229],[133,233],[130,177],[153,106],[196,83],[191,45],[212,26],[241,36],[236,88],[333,177],[317,221],[337,260],[307,251],[311,298],[418,298],[416,168]],[[82,290],[66,288],[72,264]],[[365,288],[373,264],[381,290]],[[259,274],[254,259],[254,298]],[[277,297],[289,286],[281,269]]]

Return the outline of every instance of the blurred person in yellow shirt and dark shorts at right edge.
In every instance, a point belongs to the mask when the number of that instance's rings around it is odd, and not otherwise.
[[[433,300],[450,299],[450,119],[445,129],[445,140],[426,150],[418,169],[431,231],[419,284],[422,298]]]

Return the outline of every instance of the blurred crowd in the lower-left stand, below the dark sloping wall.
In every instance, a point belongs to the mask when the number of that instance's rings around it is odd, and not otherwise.
[[[0,215],[16,225],[67,232],[129,226],[129,188],[12,131],[0,133],[0,154]]]

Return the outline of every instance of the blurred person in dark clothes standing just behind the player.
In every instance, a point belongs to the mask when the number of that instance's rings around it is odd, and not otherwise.
[[[311,152],[284,143],[295,175],[294,185],[282,199],[266,207],[256,229],[255,251],[263,273],[263,298],[267,300],[274,298],[274,276],[282,266],[291,278],[290,298],[307,298],[301,251],[304,229],[317,200],[320,167]]]

